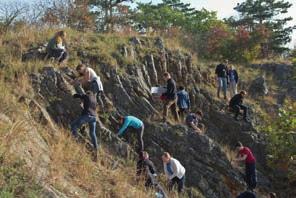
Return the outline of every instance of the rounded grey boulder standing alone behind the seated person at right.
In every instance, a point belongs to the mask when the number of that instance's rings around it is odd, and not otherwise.
[[[265,96],[268,94],[268,87],[264,76],[260,76],[251,82],[249,94],[252,97]]]

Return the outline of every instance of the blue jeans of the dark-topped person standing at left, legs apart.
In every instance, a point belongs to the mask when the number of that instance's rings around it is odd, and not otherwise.
[[[89,136],[95,150],[98,149],[97,135],[96,135],[96,117],[92,115],[81,115],[79,118],[71,123],[71,131],[74,137],[77,137],[77,130],[85,123],[89,125]]]

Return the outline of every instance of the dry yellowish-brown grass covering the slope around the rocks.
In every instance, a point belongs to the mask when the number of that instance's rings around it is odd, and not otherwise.
[[[133,60],[123,58],[118,53],[118,47],[128,42],[126,35],[99,35],[93,33],[78,33],[68,30],[69,41],[71,41],[71,55],[68,66],[74,67],[79,59],[76,55],[77,51],[87,51],[93,58],[100,60],[110,66],[118,64],[132,63]],[[19,159],[13,154],[7,155],[6,150],[9,150],[7,142],[8,131],[13,130],[15,123],[23,120],[24,115],[28,112],[26,105],[17,102],[19,96],[34,95],[28,81],[26,73],[37,72],[45,64],[43,61],[29,61],[21,62],[21,54],[28,48],[46,42],[54,33],[54,30],[36,31],[34,28],[22,28],[18,31],[10,32],[4,37],[0,38],[0,57],[4,68],[0,70],[0,112],[3,112],[13,121],[12,124],[3,124],[0,122],[0,148],[1,148],[1,166],[0,169],[0,184],[2,193],[11,193],[20,195],[21,197],[38,197],[41,186],[34,182],[32,173],[27,172],[23,166],[13,165],[19,164]],[[2,45],[2,46],[1,46]],[[172,50],[187,51],[188,49],[182,47],[179,39],[165,39],[166,47]],[[146,50],[153,53],[153,49]],[[75,53],[74,53],[75,52]],[[116,58],[114,58],[116,57]],[[118,62],[120,60],[120,62]],[[208,63],[198,61],[196,56],[193,57],[194,64],[202,70],[210,68],[214,69],[215,63]],[[135,60],[136,61],[136,60]],[[257,76],[260,71],[247,69],[243,66],[237,66],[240,73],[244,74],[243,79],[249,81]],[[124,69],[124,68],[123,68]],[[206,86],[206,89],[211,93],[215,93],[214,86]],[[259,104],[250,100],[258,110]],[[275,101],[271,99],[270,103]],[[28,122],[30,124],[30,122]],[[50,148],[50,174],[47,178],[47,183],[54,186],[61,192],[71,196],[85,196],[90,197],[148,197],[145,190],[136,185],[134,178],[134,162],[126,162],[124,166],[119,169],[112,169],[112,162],[115,157],[108,154],[108,149],[103,149],[100,153],[102,159],[97,165],[91,162],[89,155],[83,145],[77,145],[71,138],[66,135],[69,132],[60,129],[62,133],[58,134],[56,138],[52,139],[48,135],[47,126],[41,126],[37,123],[34,127],[42,134],[42,137],[48,143]],[[22,126],[20,126],[22,127]],[[15,139],[21,137],[18,133],[21,130],[14,131]],[[105,160],[108,159],[108,160]],[[5,174],[10,172],[8,167],[14,167],[18,185],[14,185],[14,180],[7,178]],[[34,175],[34,173],[33,173]],[[8,182],[7,182],[8,179]],[[29,182],[28,182],[29,181]],[[73,188],[65,184],[71,184]],[[14,190],[14,188],[27,190]],[[77,192],[76,192],[76,190]],[[0,196],[2,197],[2,196]],[[9,196],[8,196],[9,197]],[[13,196],[10,196],[13,197]]]

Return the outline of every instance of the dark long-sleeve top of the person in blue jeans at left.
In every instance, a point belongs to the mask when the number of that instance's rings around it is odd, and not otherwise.
[[[74,98],[80,98],[83,102],[82,115],[96,116],[97,100],[94,94],[75,94]]]

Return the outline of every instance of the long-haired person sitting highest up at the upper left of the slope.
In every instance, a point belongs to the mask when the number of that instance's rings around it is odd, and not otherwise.
[[[67,60],[66,36],[65,31],[59,31],[49,40],[46,47],[47,58],[53,57],[59,64],[63,64]]]

